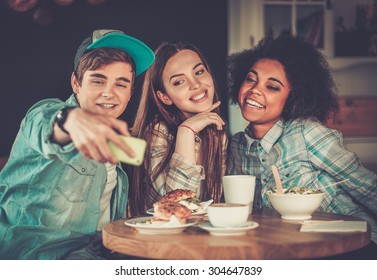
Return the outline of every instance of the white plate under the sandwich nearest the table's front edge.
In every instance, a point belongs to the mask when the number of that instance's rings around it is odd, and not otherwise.
[[[139,233],[144,234],[175,234],[181,233],[185,228],[196,224],[195,221],[188,221],[184,225],[151,225],[145,222],[150,220],[151,217],[139,217],[125,221],[125,225],[135,228]]]

